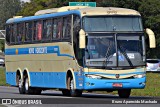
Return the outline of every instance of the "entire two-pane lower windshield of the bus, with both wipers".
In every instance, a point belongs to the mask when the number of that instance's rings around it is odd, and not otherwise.
[[[86,66],[135,67],[145,64],[144,40],[142,36],[138,34],[96,35],[89,34],[87,37],[85,50]]]

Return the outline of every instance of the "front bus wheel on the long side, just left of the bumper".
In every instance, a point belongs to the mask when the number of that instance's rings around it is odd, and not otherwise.
[[[68,85],[70,86],[70,95],[73,97],[78,97],[82,95],[82,90],[74,89],[74,81],[73,78],[68,77]]]

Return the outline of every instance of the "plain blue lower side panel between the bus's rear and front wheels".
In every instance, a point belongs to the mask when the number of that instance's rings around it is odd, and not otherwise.
[[[65,72],[30,72],[31,87],[66,88]]]

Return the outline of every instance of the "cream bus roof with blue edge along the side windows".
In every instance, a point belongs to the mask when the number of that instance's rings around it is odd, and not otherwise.
[[[136,15],[140,16],[138,11],[126,8],[117,7],[87,7],[87,6],[65,6],[61,8],[52,8],[40,10],[35,13],[35,16],[28,16],[23,18],[11,18],[7,20],[8,23],[18,23],[22,21],[31,21],[36,19],[51,18],[64,16],[69,14],[78,14],[83,16],[98,16],[98,15]]]

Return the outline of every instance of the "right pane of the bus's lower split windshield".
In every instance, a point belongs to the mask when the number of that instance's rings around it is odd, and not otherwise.
[[[144,37],[138,34],[117,34],[118,66],[144,66]]]

